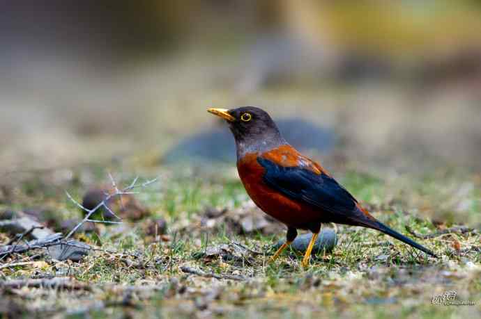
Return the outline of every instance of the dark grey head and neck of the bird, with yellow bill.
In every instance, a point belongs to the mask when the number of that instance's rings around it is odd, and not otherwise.
[[[209,108],[208,112],[222,117],[229,124],[236,140],[238,158],[242,158],[246,153],[263,153],[287,144],[273,119],[261,108]]]

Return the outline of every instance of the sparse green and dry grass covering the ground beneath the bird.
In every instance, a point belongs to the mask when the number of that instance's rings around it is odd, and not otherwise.
[[[114,167],[128,171],[127,167]],[[248,197],[243,186],[222,169],[217,174],[191,170],[160,170],[160,182],[139,195],[152,218],[165,218],[168,240],[153,240],[145,232],[148,220],[128,222],[121,230],[100,227],[100,234],[77,234],[77,238],[123,252],[96,252],[80,263],[47,261],[42,268],[3,268],[3,280],[69,275],[95,289],[67,291],[29,288],[1,291],[2,298],[20,304],[25,317],[55,318],[466,318],[481,313],[481,260],[478,234],[448,234],[420,240],[438,254],[432,259],[411,247],[372,230],[337,227],[339,243],[332,254],[318,256],[309,269],[300,267],[302,256],[292,250],[268,265],[271,246],[284,232],[239,234],[229,224],[204,229],[201,219],[208,207],[243,209]],[[93,170],[98,168],[82,168]],[[82,175],[82,172],[75,172]],[[97,183],[107,180],[93,174]],[[149,172],[141,176],[151,178]],[[128,183],[130,175],[121,176]],[[45,177],[48,179],[48,177]],[[382,222],[406,234],[409,226],[418,234],[436,231],[432,220],[445,218],[452,224],[478,227],[479,181],[464,172],[428,172],[426,176],[379,177],[369,170],[355,169],[339,177],[344,186]],[[25,195],[16,202],[31,202],[49,211],[76,215],[63,190],[80,196],[86,183],[75,179],[55,187],[40,178],[26,181]],[[466,186],[468,185],[468,186]],[[469,187],[469,185],[475,187]],[[456,190],[466,189],[460,192]],[[23,194],[23,193],[22,193]],[[33,197],[33,198],[32,198]],[[28,201],[31,202],[28,202]],[[468,203],[468,204],[466,204]],[[0,207],[2,208],[2,207]],[[4,206],[3,208],[6,208]],[[61,216],[59,216],[61,218]],[[329,225],[328,225],[329,226]],[[412,237],[412,236],[411,236]],[[0,237],[1,238],[1,237]],[[461,244],[461,252],[453,243]],[[209,247],[241,243],[265,254],[224,260],[207,258]],[[478,247],[478,250],[469,250]],[[36,252],[43,254],[42,252]],[[32,253],[33,254],[33,253]],[[137,257],[133,256],[135,254]],[[21,256],[14,256],[13,259]],[[213,279],[185,273],[182,265],[217,275],[241,275],[244,281]],[[155,285],[155,290],[142,287]],[[137,287],[133,293],[125,287]],[[457,300],[471,300],[475,306],[432,305],[434,295],[457,291]],[[128,302],[125,298],[128,296]],[[96,307],[96,302],[103,306]],[[107,306],[106,306],[107,305]]]

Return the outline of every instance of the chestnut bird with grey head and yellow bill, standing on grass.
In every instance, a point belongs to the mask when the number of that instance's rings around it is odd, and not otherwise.
[[[321,225],[331,222],[375,229],[437,257],[376,220],[328,170],[289,145],[266,111],[254,106],[207,111],[229,124],[236,142],[238,175],[247,194],[264,213],[287,226],[287,240],[270,263],[289,247],[298,229],[303,229],[312,232],[302,260],[307,268]]]

